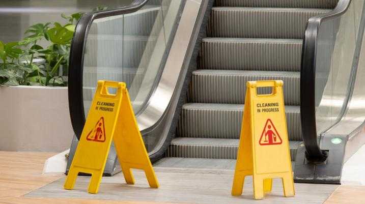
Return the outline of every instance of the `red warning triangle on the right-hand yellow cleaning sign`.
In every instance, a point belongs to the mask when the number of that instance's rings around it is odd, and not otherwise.
[[[260,137],[260,145],[274,145],[283,142],[279,133],[270,119],[267,119],[264,130]]]

